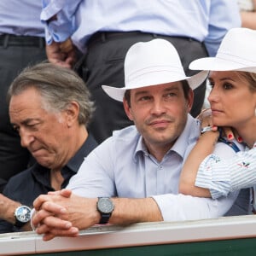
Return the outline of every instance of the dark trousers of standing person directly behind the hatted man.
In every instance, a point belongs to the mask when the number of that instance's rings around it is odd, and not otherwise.
[[[189,63],[207,56],[205,45],[191,38],[172,38],[142,32],[99,32],[88,43],[88,51],[79,70],[96,102],[96,113],[90,125],[90,131],[98,143],[112,135],[131,121],[126,117],[123,104],[110,98],[101,85],[125,86],[124,60],[132,44],[149,41],[153,38],[165,38],[177,48],[187,75],[197,72],[189,70]],[[193,116],[201,112],[206,84],[195,90],[195,102],[191,110]]]

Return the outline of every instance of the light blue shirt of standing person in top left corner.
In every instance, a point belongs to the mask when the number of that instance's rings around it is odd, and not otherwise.
[[[0,0],[0,34],[44,38],[41,0]]]

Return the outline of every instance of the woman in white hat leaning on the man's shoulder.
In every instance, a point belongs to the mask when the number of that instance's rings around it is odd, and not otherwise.
[[[218,198],[256,184],[255,45],[256,31],[234,28],[227,32],[216,57],[202,58],[189,66],[210,71],[208,79],[212,91],[208,101],[212,126],[202,129],[198,143],[183,166],[180,179],[183,194]],[[208,121],[205,119],[205,125],[210,124]],[[238,152],[236,158],[230,160],[212,154],[219,137],[217,126],[230,126],[247,150]],[[226,142],[232,143],[230,139],[231,134]]]

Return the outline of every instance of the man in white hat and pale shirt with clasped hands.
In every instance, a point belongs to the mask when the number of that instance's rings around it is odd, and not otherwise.
[[[177,50],[166,40],[131,46],[125,56],[125,87],[102,88],[124,103],[135,125],[113,132],[97,147],[68,189],[34,201],[32,224],[38,234],[49,240],[78,236],[94,224],[224,215],[237,193],[216,201],[178,195],[183,161],[200,135],[199,121],[189,115],[191,88],[206,78],[207,72],[186,77]],[[225,157],[235,154],[225,144],[217,151]]]

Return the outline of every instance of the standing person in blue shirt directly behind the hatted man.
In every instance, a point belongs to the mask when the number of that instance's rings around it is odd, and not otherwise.
[[[153,38],[172,42],[187,75],[189,63],[214,56],[225,33],[241,26],[235,1],[226,0],[44,0],[41,19],[46,25],[50,62],[72,67],[75,48],[84,55],[74,68],[92,93],[96,114],[90,130],[101,143],[131,125],[121,102],[113,102],[102,84],[125,83],[124,59],[132,44]],[[193,116],[201,113],[205,84],[195,90]]]

